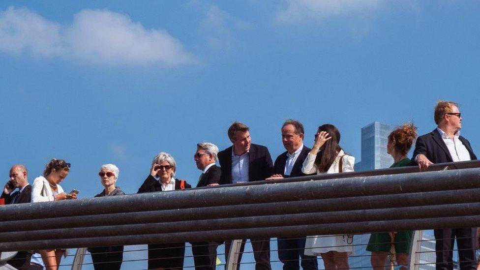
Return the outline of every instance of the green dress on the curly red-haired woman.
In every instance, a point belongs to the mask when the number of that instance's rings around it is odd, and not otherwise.
[[[393,163],[390,168],[404,167],[410,164],[410,159],[404,158],[397,163]],[[412,231],[398,232],[395,234],[395,251],[397,253],[410,253],[412,243]],[[368,240],[367,251],[390,251],[390,235],[388,233],[373,233]]]

